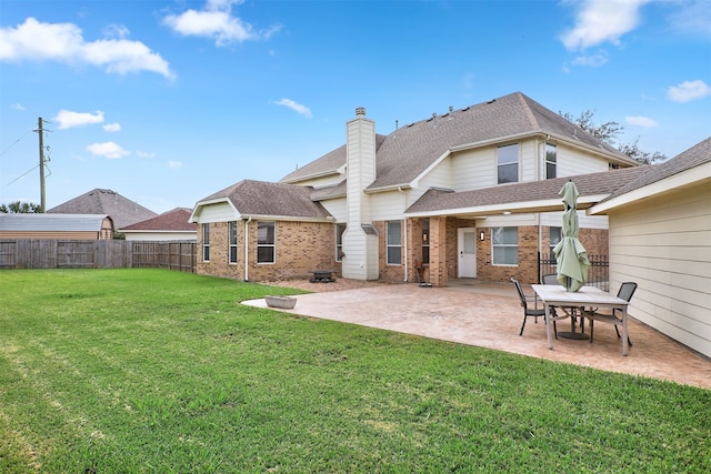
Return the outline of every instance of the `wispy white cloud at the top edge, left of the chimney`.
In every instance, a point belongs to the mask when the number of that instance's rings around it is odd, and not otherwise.
[[[212,38],[219,47],[231,42],[268,39],[281,29],[276,26],[264,31],[254,30],[250,23],[232,14],[232,6],[237,3],[241,1],[209,0],[206,9],[169,14],[163,23],[186,37]]]

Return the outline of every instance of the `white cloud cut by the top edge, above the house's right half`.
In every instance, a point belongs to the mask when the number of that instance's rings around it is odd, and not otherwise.
[[[637,28],[642,6],[651,0],[585,0],[578,11],[575,26],[561,37],[568,50],[611,42]]]

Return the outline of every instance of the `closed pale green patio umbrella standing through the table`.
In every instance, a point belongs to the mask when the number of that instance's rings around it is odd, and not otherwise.
[[[558,262],[558,282],[568,291],[580,290],[588,281],[590,261],[588,252],[578,240],[580,226],[578,224],[578,188],[568,181],[560,190],[565,211],[563,212],[563,238],[553,249]]]

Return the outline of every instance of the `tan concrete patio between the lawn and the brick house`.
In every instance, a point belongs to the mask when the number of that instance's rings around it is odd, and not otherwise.
[[[595,326],[593,343],[561,337],[553,340],[553,350],[548,349],[542,319],[538,324],[529,319],[519,336],[523,310],[512,284],[465,280],[450,282],[449,288],[383,284],[302,294],[297,300],[297,306],[286,311],[711,390],[711,360],[633,317],[628,356],[622,356],[622,344],[608,324]],[[268,307],[264,300],[243,304]],[[569,320],[559,322],[560,330],[570,330]]]

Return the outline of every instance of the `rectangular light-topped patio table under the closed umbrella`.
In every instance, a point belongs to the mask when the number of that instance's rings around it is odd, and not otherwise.
[[[622,300],[602,291],[595,286],[583,286],[578,291],[569,292],[562,285],[531,285],[538,297],[543,302],[545,307],[545,333],[548,335],[548,349],[553,349],[553,339],[551,334],[551,325],[558,317],[552,316],[552,306],[588,306],[588,307],[610,307],[622,311],[622,355],[628,353],[628,333],[627,333],[627,309],[629,301]],[[584,313],[581,314],[584,317]]]

